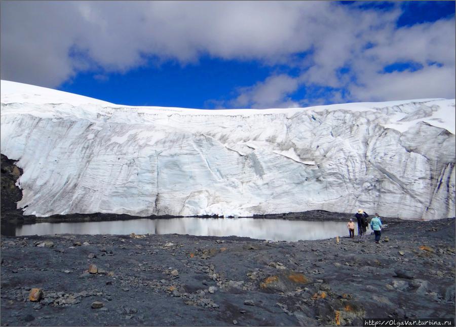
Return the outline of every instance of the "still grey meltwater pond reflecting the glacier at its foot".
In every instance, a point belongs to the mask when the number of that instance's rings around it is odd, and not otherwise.
[[[52,235],[52,234],[189,234],[197,236],[243,236],[272,241],[316,240],[348,236],[346,222],[303,222],[253,218],[195,218],[136,219],[128,221],[83,223],[38,223],[11,227],[2,234]]]

